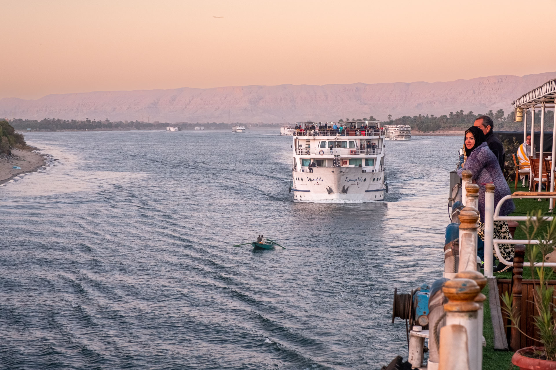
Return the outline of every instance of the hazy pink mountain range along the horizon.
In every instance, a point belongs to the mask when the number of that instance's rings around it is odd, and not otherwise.
[[[0,99],[0,117],[281,123],[402,115],[486,113],[556,78],[556,72],[499,75],[451,82],[241,86],[46,95]]]

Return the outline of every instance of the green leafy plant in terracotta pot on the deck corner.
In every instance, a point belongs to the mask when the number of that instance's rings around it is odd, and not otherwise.
[[[532,219],[528,214],[525,225],[521,226],[529,242],[539,241],[539,244],[528,244],[525,250],[525,256],[529,262],[541,263],[539,267],[531,267],[533,300],[537,312],[537,315],[533,316],[533,320],[539,331],[539,339],[528,336],[519,328],[520,315],[512,306],[513,295],[508,295],[506,292],[502,296],[503,310],[512,322],[510,327],[517,328],[520,333],[540,344],[539,347],[525,347],[514,353],[512,363],[522,370],[556,370],[556,310],[552,303],[554,287],[548,285],[548,280],[554,271],[552,268],[544,267],[545,257],[556,247],[556,217],[548,223],[542,216],[540,210],[537,212],[537,220]],[[538,283],[535,282],[535,273],[538,276]]]

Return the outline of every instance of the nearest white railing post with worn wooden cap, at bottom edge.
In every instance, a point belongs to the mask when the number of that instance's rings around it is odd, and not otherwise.
[[[448,303],[444,305],[446,325],[440,329],[439,370],[477,368],[477,320],[479,305],[475,297],[480,288],[470,279],[446,281],[442,287]]]

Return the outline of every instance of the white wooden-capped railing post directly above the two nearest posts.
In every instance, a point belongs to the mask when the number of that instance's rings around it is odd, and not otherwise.
[[[479,214],[465,207],[459,214],[459,265],[458,271],[477,271],[477,220]]]

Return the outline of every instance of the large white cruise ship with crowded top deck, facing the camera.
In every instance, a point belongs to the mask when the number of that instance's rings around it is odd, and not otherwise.
[[[334,124],[342,125],[342,129],[332,129]],[[359,128],[349,129],[353,124]],[[366,128],[361,129],[361,124]],[[384,170],[385,132],[380,121],[306,122],[301,127],[294,133],[290,188],[294,200],[384,199],[388,184]]]

